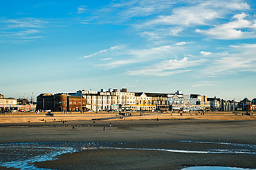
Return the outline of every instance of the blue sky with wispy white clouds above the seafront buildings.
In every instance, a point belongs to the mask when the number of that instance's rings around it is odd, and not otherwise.
[[[0,94],[256,98],[253,0],[0,0]]]

